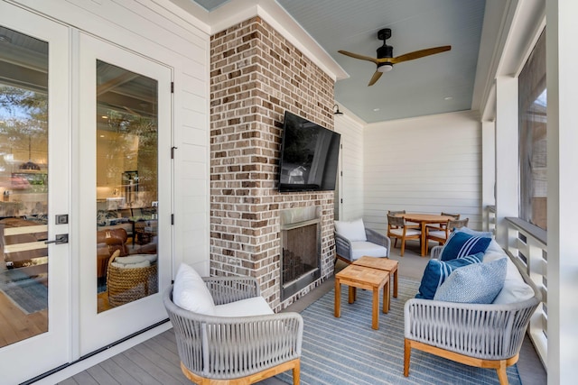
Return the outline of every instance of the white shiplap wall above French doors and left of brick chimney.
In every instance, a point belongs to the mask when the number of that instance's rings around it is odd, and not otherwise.
[[[170,135],[176,147],[170,202],[173,266],[186,261],[208,275],[209,26],[168,0],[16,2],[172,69],[172,132],[161,134]],[[74,55],[76,47],[72,50]]]

